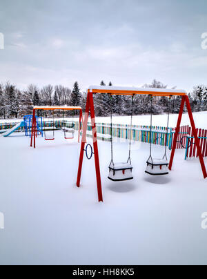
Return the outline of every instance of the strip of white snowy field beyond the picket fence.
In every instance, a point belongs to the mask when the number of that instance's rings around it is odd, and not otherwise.
[[[178,115],[170,115],[170,127],[174,128],[177,124]],[[195,126],[197,128],[207,128],[207,111],[200,113],[193,113],[195,119]],[[58,118],[57,118],[58,119]],[[52,119],[47,118],[45,120]],[[65,118],[66,120],[66,118]],[[68,118],[72,121],[72,118]],[[79,121],[79,118],[74,120]],[[9,122],[20,122],[21,119],[0,119],[0,123],[9,123]],[[167,115],[153,115],[153,125],[155,126],[167,126],[168,116]],[[96,117],[97,123],[110,123],[110,117]],[[112,119],[113,124],[130,124],[130,116],[115,116]],[[181,121],[181,125],[190,125],[188,113],[184,113]],[[150,125],[150,115],[135,115],[133,117],[133,125]]]

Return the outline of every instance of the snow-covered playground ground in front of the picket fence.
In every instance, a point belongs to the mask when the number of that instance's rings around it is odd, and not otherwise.
[[[0,264],[207,264],[207,181],[184,151],[170,175],[150,177],[148,144],[132,144],[134,180],[111,182],[110,143],[99,142],[98,203],[94,160],[84,158],[78,189],[80,145],[61,131],[54,142],[39,137],[36,149],[22,133],[0,137],[0,146]],[[127,143],[114,149],[116,162],[127,159]]]

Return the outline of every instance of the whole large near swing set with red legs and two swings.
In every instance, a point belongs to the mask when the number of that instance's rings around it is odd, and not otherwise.
[[[197,136],[197,131],[195,128],[195,122],[193,119],[193,113],[190,108],[190,102],[188,99],[188,95],[185,90],[172,90],[172,89],[160,89],[160,88],[130,88],[130,87],[117,87],[117,86],[90,86],[88,88],[88,95],[86,101],[86,113],[85,119],[83,121],[83,135],[81,141],[81,151],[79,157],[79,169],[77,173],[77,186],[80,186],[81,182],[81,171],[83,165],[83,155],[84,151],[86,151],[86,157],[91,158],[92,155],[95,155],[95,170],[97,176],[97,192],[98,192],[98,200],[99,202],[103,202],[103,195],[102,195],[102,188],[101,188],[101,174],[100,174],[100,166],[99,166],[99,151],[98,151],[98,144],[97,144],[97,128],[95,123],[95,109],[94,109],[94,100],[93,94],[104,93],[112,95],[125,95],[132,97],[132,108],[131,108],[131,124],[130,124],[130,144],[132,140],[132,114],[133,114],[133,99],[135,95],[149,95],[151,98],[151,110],[152,110],[152,98],[153,97],[169,97],[172,96],[181,96],[181,106],[179,110],[179,117],[177,120],[177,128],[175,131],[175,137],[172,145],[172,152],[170,156],[170,162],[168,162],[168,158],[166,155],[166,149],[164,153],[164,157],[161,159],[153,159],[152,158],[152,111],[151,111],[151,124],[150,124],[150,157],[147,161],[147,168],[146,173],[150,175],[167,175],[168,170],[172,170],[172,163],[175,155],[175,149],[177,145],[177,137],[179,134],[179,128],[181,124],[181,117],[184,113],[184,105],[186,104],[186,108],[188,110],[188,115],[190,118],[190,124],[192,126],[193,136],[195,137],[195,144],[197,146],[197,153],[199,155],[199,161],[201,164],[201,169],[204,175],[204,178],[207,177],[206,173],[206,166],[204,164],[204,157],[201,153],[201,147],[199,145],[199,138]],[[92,122],[92,138],[93,138],[93,148],[94,151],[91,149],[91,155],[88,155],[88,144],[85,149],[86,144],[86,131],[88,126],[88,116],[90,113],[91,122]],[[169,125],[169,115],[168,113],[168,125]],[[109,175],[108,178],[112,181],[125,181],[131,180],[132,177],[132,162],[130,159],[130,147],[129,147],[129,157],[126,163],[114,163],[113,161],[113,144],[112,144],[112,108],[111,108],[111,127],[110,127],[110,134],[111,134],[111,162],[109,165]],[[166,132],[166,139],[168,137],[168,131]],[[166,140],[167,142],[167,140]],[[167,148],[167,146],[166,146]]]

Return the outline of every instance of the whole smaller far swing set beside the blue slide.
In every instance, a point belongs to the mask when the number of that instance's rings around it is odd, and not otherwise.
[[[66,140],[72,140],[74,138],[74,127],[75,124],[73,122],[72,117],[72,125],[70,127],[66,126],[65,121],[65,110],[79,110],[79,135],[78,135],[78,142],[80,141],[80,132],[81,132],[81,122],[83,122],[83,113],[82,108],[80,106],[34,106],[33,108],[33,116],[32,116],[32,135],[31,135],[31,143],[30,146],[32,147],[32,144],[34,145],[34,148],[36,147],[36,137],[37,137],[37,120],[36,120],[36,110],[52,110],[52,133],[46,132],[46,128],[44,129],[44,136],[46,141],[53,141],[55,140],[55,130],[57,130],[55,126],[55,116],[54,116],[54,110],[63,110],[63,126],[61,127],[63,130],[64,138]]]

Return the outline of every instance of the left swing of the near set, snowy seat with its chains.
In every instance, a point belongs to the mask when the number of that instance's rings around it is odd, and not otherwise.
[[[133,115],[133,99],[134,95],[132,96],[132,107],[131,107],[131,122],[130,122],[130,144],[129,144],[129,153],[128,153],[128,160],[126,163],[119,162],[114,163],[113,160],[113,140],[112,140],[112,95],[110,96],[111,99],[111,106],[110,106],[110,143],[111,143],[111,160],[109,165],[109,174],[108,179],[112,181],[126,181],[132,180],[132,162],[131,162],[131,141],[132,141],[132,115]]]

